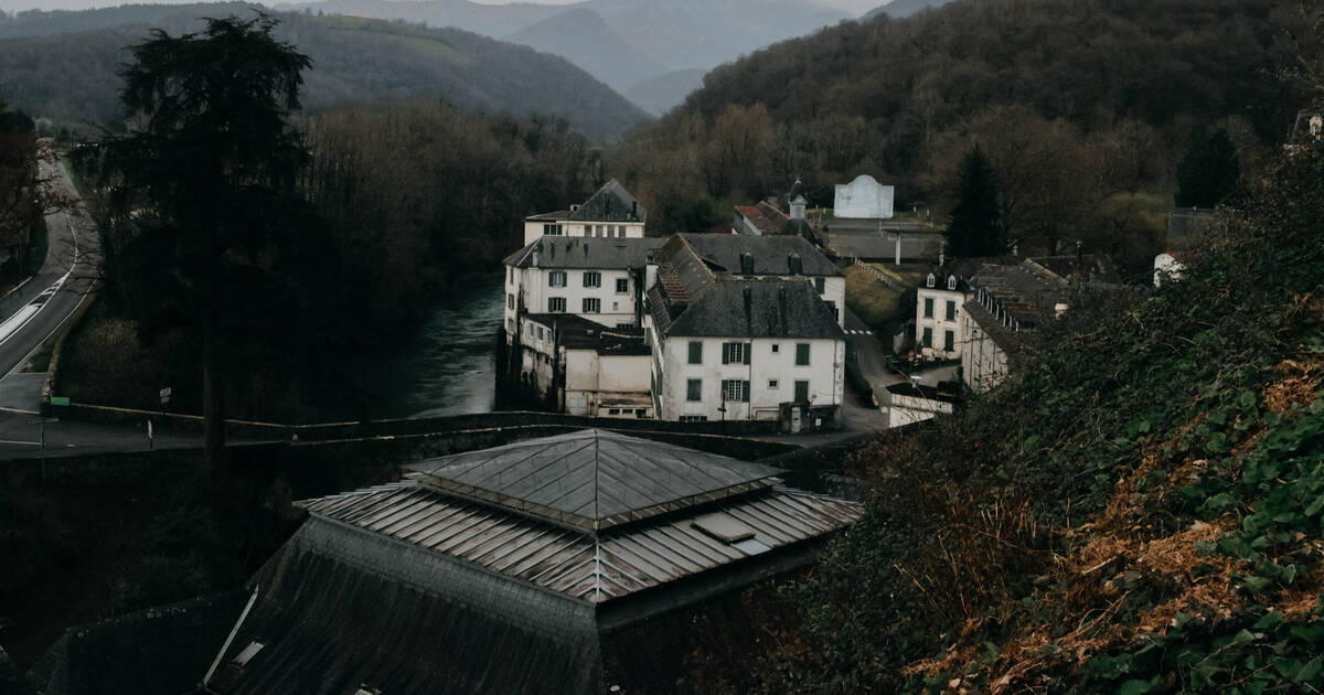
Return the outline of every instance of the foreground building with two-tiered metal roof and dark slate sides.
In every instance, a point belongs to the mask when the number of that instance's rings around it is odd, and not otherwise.
[[[583,430],[406,466],[404,481],[298,503],[252,579],[207,692],[674,691],[737,592],[813,561],[858,504],[781,471]]]

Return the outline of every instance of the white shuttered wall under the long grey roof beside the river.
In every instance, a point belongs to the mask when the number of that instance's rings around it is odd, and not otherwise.
[[[514,332],[516,312],[575,314],[608,328],[637,327],[636,297],[638,295],[636,285],[630,271],[622,269],[518,267],[507,265],[506,331],[507,334]],[[589,302],[585,302],[587,299]]]

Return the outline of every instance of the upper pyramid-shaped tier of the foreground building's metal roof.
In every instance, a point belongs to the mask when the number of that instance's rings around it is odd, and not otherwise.
[[[781,482],[777,469],[597,429],[406,467],[425,487],[588,532]]]

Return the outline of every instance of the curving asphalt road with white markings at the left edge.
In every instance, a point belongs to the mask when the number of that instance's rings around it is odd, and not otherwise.
[[[73,314],[97,274],[98,238],[62,162],[42,162],[42,179],[71,201],[46,216],[46,259],[20,289],[0,299],[0,375],[23,367]]]

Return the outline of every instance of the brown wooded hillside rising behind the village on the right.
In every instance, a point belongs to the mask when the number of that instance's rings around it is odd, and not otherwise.
[[[1251,171],[1286,135],[1303,95],[1275,75],[1300,7],[980,0],[846,23],[712,70],[618,163],[659,230],[698,224],[695,197],[784,195],[797,176],[830,192],[857,173],[941,218],[980,143],[1017,188],[1008,238],[1120,252],[1116,237],[1153,232],[1132,220],[1170,204],[1194,126],[1226,128]]]

